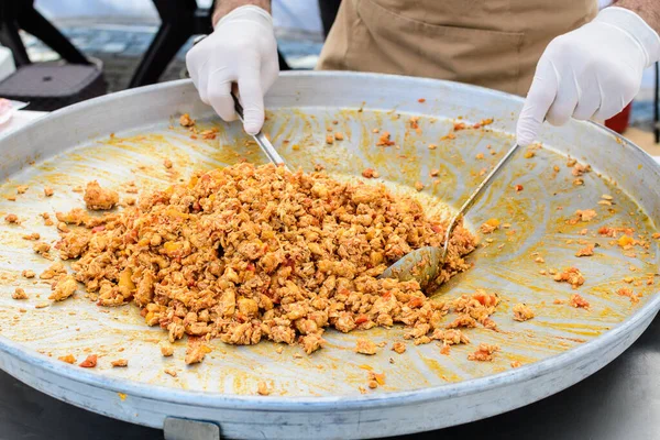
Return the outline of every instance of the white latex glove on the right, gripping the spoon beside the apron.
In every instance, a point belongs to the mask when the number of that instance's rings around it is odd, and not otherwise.
[[[543,119],[562,125],[571,117],[612,118],[635,98],[642,70],[658,59],[660,36],[639,15],[602,10],[546,48],[518,119],[518,143],[532,143]]]

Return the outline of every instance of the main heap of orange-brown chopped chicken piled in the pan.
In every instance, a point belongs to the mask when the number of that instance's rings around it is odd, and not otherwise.
[[[61,232],[57,243],[63,256],[78,258],[75,279],[100,306],[134,302],[170,342],[186,334],[241,345],[271,340],[311,353],[327,327],[403,323],[415,343],[427,343],[448,312],[416,282],[376,278],[411,250],[441,245],[446,228],[384,186],[241,163],[197,173],[94,222],[66,216],[84,227]],[[470,267],[463,256],[475,239],[459,226],[450,245],[437,284]],[[193,344],[186,363],[204,354]]]

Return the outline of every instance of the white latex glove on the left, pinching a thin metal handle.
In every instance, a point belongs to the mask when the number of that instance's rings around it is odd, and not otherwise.
[[[186,65],[200,99],[226,121],[237,119],[230,91],[238,82],[243,128],[258,133],[264,124],[264,95],[279,74],[271,14],[255,6],[234,9],[188,52]]]

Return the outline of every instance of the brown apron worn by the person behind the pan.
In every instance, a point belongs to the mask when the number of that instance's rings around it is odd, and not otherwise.
[[[319,68],[526,95],[548,43],[597,11],[597,0],[343,0]]]

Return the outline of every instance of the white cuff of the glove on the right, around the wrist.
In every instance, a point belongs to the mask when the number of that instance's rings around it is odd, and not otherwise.
[[[594,22],[614,26],[628,35],[644,52],[645,67],[660,61],[660,35],[634,11],[618,7],[605,8]]]

